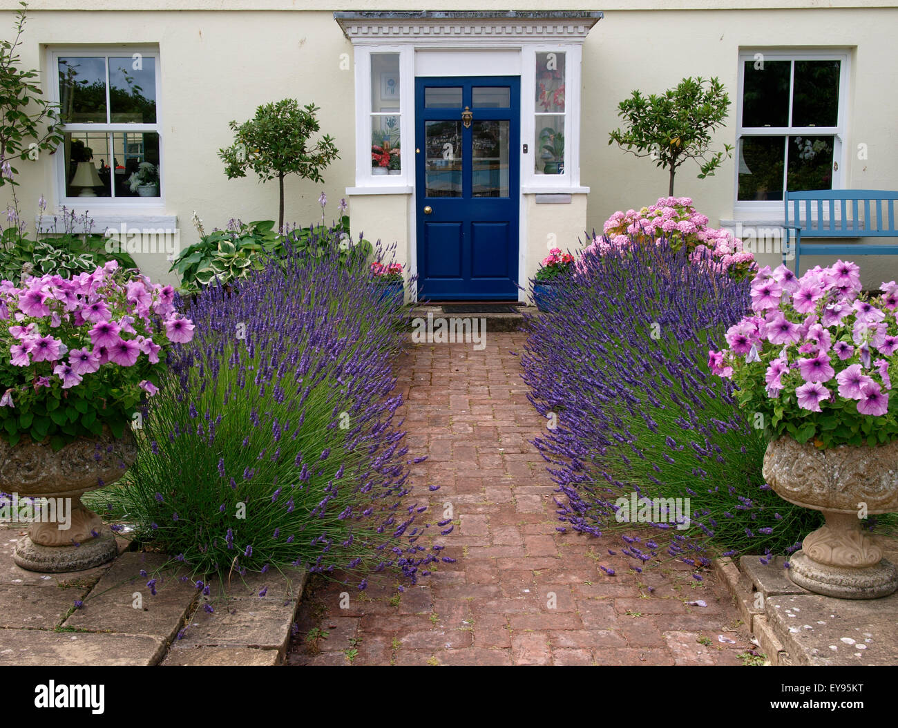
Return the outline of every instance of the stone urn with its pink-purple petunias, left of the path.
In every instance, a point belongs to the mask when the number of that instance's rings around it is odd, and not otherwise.
[[[189,341],[193,324],[175,311],[172,286],[115,261],[0,283],[0,320],[0,492],[19,505],[13,518],[32,521],[15,563],[99,566],[116,556],[115,538],[81,496],[135,461],[138,405],[157,391],[166,348]],[[35,521],[38,504],[46,511]]]

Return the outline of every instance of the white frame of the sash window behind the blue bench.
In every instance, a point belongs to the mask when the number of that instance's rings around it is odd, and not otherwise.
[[[835,127],[743,127],[742,112],[744,98],[745,83],[745,63],[754,62],[757,54],[762,54],[763,61],[792,61],[791,75],[789,79],[789,121],[792,120],[792,91],[795,81],[795,63],[794,61],[831,61],[838,60],[840,64],[839,77],[839,104],[837,119],[838,124]],[[734,213],[736,215],[763,215],[765,218],[781,220],[784,216],[784,203],[782,200],[740,200],[739,199],[739,148],[743,136],[796,136],[796,132],[801,131],[806,134],[807,129],[814,130],[814,136],[832,136],[833,149],[832,160],[838,165],[837,169],[832,171],[832,189],[844,189],[846,178],[846,162],[847,147],[846,144],[846,127],[848,115],[848,99],[849,99],[849,79],[850,79],[850,51],[847,49],[827,49],[827,48],[795,48],[766,50],[764,48],[742,49],[739,52],[739,83],[738,96],[736,97],[736,131],[735,131],[735,170],[733,172],[734,188]],[[802,136],[804,136],[804,134]],[[783,170],[783,191],[785,193],[786,180],[788,175],[788,164]]]

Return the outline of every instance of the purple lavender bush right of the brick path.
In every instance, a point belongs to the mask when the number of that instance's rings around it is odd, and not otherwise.
[[[557,311],[531,321],[522,357],[529,398],[557,423],[534,444],[562,528],[621,534],[637,569],[797,548],[820,514],[764,483],[762,432],[709,371],[709,348],[749,311],[749,284],[666,241],[587,252],[577,268]]]

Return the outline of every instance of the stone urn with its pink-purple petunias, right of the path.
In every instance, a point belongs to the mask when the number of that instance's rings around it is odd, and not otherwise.
[[[770,443],[763,475],[825,524],[789,559],[811,592],[872,599],[898,588],[898,570],[865,530],[867,515],[898,511],[898,285],[861,295],[859,269],[841,260],[797,279],[780,266],[752,282],[753,314],[709,352]]]

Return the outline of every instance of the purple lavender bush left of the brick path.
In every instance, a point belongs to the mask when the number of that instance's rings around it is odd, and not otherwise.
[[[340,252],[287,250],[182,302],[195,337],[144,412],[128,487],[101,502],[194,575],[303,566],[364,589],[441,558],[394,422],[403,310]]]

